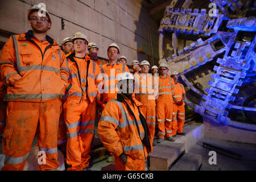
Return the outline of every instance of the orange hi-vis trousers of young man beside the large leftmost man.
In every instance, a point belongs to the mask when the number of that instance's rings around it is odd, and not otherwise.
[[[82,171],[89,166],[90,146],[94,137],[96,102],[82,100],[80,104],[66,101],[64,119],[67,125],[67,164],[69,171]]]

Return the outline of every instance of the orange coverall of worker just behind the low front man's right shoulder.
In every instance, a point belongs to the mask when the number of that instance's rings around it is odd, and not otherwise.
[[[135,77],[135,98],[143,104],[141,111],[146,115],[151,143],[155,135],[155,95],[158,94],[158,77],[141,73]]]

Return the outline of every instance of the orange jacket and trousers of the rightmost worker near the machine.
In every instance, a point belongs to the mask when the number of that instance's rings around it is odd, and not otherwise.
[[[181,101],[183,94],[185,94],[185,89],[182,84],[179,82],[174,84],[174,96],[177,101]],[[174,111],[172,114],[172,135],[176,135],[176,133],[182,133],[183,125],[185,122],[185,102],[181,106],[177,105],[174,102]]]

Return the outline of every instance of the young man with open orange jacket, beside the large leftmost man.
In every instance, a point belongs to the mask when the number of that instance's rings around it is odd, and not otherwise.
[[[86,55],[88,39],[81,32],[73,35],[75,52],[67,56],[69,86],[63,106],[67,125],[68,171],[89,170],[89,152],[94,137],[97,86],[100,67]]]

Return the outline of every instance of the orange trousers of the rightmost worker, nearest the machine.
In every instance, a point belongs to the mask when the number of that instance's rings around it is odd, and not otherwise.
[[[182,133],[185,122],[185,104],[178,106],[174,104],[174,111],[172,113],[172,135]]]

